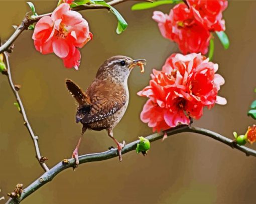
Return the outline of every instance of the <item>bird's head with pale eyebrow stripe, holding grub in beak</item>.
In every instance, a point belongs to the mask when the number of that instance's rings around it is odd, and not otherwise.
[[[146,60],[133,60],[125,56],[113,56],[107,59],[98,69],[96,77],[99,79],[109,79],[116,83],[127,81],[132,69],[140,66],[141,72],[144,72]]]

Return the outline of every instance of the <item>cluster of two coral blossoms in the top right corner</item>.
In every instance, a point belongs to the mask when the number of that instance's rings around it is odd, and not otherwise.
[[[163,37],[176,42],[183,54],[208,52],[211,32],[225,30],[222,12],[227,0],[189,0],[176,5],[170,14],[154,12]]]

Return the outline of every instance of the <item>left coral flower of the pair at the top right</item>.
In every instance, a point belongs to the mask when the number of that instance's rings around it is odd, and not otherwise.
[[[176,5],[169,15],[154,12],[153,19],[162,36],[176,42],[183,54],[208,52],[210,32],[195,20],[193,11],[185,4]]]

